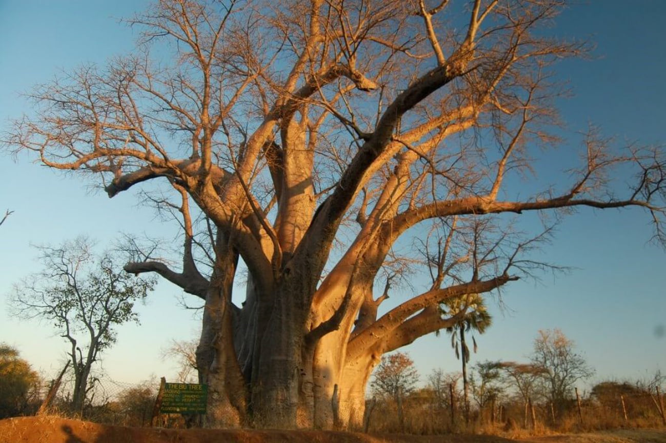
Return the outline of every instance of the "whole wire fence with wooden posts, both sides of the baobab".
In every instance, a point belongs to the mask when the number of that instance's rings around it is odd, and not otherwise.
[[[194,416],[162,414],[159,422],[155,402],[159,380],[129,383],[111,378],[91,380],[87,400],[78,414],[69,409],[71,383],[63,383],[51,406],[51,412],[76,416],[92,422],[119,426],[161,426],[184,428]],[[666,426],[663,392],[659,388],[621,385],[621,390],[607,390],[584,398],[571,396],[563,404],[545,400],[529,403],[511,396],[498,396],[484,406],[466,410],[462,398],[453,391],[450,399],[423,389],[396,402],[380,399],[366,406],[366,430],[370,432],[412,432],[438,434],[478,432],[484,428],[533,431],[551,428],[561,432],[617,427]],[[441,398],[440,398],[441,397]],[[446,400],[446,401],[445,401]],[[370,416],[372,414],[372,416]],[[190,422],[188,422],[190,420]]]

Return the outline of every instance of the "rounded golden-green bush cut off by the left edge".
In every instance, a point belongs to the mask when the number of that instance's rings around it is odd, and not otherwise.
[[[19,351],[0,343],[0,418],[25,414],[39,397],[40,379]]]

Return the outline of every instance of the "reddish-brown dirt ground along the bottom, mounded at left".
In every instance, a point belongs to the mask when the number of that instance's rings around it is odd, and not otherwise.
[[[59,417],[0,420],[0,443],[666,443],[666,429],[624,429],[593,434],[511,440],[500,436],[368,435],[353,432],[125,428]]]

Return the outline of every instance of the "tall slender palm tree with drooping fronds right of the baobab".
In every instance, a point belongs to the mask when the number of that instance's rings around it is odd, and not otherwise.
[[[456,350],[456,358],[461,360],[462,353],[462,386],[465,401],[465,422],[470,421],[470,402],[468,400],[468,382],[467,382],[467,364],[470,362],[470,348],[467,345],[466,333],[478,332],[483,334],[492,323],[492,316],[486,308],[484,299],[479,294],[468,294],[466,296],[451,298],[446,300],[440,306],[442,311],[450,316],[454,316],[466,310],[466,314],[456,324],[446,328],[446,332],[451,334],[451,346]],[[478,346],[476,338],[472,334],[472,343],[474,344],[474,353]]]

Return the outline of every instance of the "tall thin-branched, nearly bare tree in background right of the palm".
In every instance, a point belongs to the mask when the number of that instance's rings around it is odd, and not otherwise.
[[[534,340],[531,361],[545,370],[545,392],[559,412],[562,412],[566,400],[571,398],[575,383],[594,374],[585,358],[574,352],[573,348],[573,340],[569,340],[557,328],[539,330]]]

